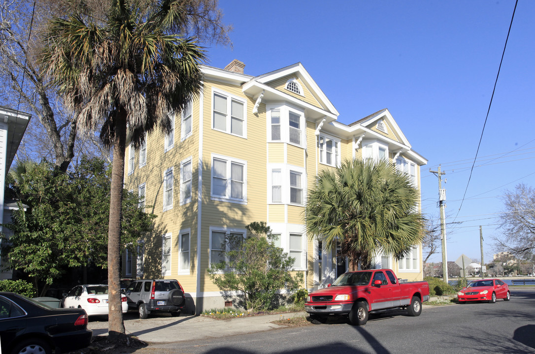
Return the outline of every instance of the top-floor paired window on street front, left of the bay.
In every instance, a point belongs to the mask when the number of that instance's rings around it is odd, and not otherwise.
[[[247,101],[223,91],[213,91],[212,128],[247,137]]]

